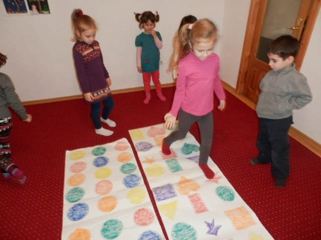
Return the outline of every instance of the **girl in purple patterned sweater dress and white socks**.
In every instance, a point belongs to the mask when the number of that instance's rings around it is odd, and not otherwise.
[[[114,107],[109,86],[111,78],[104,65],[99,42],[95,40],[97,25],[94,19],[83,14],[81,9],[75,9],[71,14],[73,29],[73,57],[78,81],[87,103],[91,104],[91,119],[95,132],[109,136],[113,131],[101,126],[101,122],[110,127],[116,123],[111,120],[109,114]],[[100,116],[101,102],[104,104],[102,116]]]

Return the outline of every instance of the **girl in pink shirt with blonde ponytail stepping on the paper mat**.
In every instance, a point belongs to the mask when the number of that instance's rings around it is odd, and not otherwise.
[[[177,70],[178,78],[172,108],[164,119],[165,128],[172,128],[179,115],[179,129],[165,137],[162,146],[164,154],[171,154],[170,145],[184,138],[197,122],[201,132],[199,166],[207,178],[214,177],[207,164],[214,130],[214,92],[220,100],[218,109],[225,107],[219,57],[212,51],[216,40],[216,26],[207,18],[185,24],[175,38],[169,71]]]

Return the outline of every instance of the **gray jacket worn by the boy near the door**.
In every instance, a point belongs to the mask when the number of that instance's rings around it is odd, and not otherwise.
[[[293,115],[294,108],[302,108],[312,100],[306,77],[296,71],[294,63],[266,73],[260,82],[260,89],[256,113],[262,118],[286,118]]]

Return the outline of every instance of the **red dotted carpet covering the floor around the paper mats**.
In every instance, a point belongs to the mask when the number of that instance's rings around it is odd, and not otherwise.
[[[128,129],[163,122],[174,90],[164,88],[166,102],[152,92],[149,104],[142,103],[142,91],[115,94],[110,118],[117,127],[109,137],[94,132],[83,99],[27,106],[31,123],[14,114],[13,160],[28,179],[20,185],[0,177],[0,239],[60,239],[65,151],[121,137],[130,141]],[[319,239],[321,158],[291,138],[290,178],[285,188],[275,187],[269,165],[249,162],[257,154],[255,111],[228,92],[227,104],[225,111],[214,110],[211,157],[275,239]],[[197,125],[191,132],[199,140]]]

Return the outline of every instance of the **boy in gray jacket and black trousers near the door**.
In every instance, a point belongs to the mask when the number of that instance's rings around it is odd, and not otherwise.
[[[277,187],[285,187],[290,172],[288,131],[293,123],[293,109],[302,108],[312,99],[305,76],[296,71],[293,63],[299,45],[291,35],[279,36],[271,43],[267,55],[272,70],[260,82],[256,105],[259,155],[251,163],[271,163]]]

